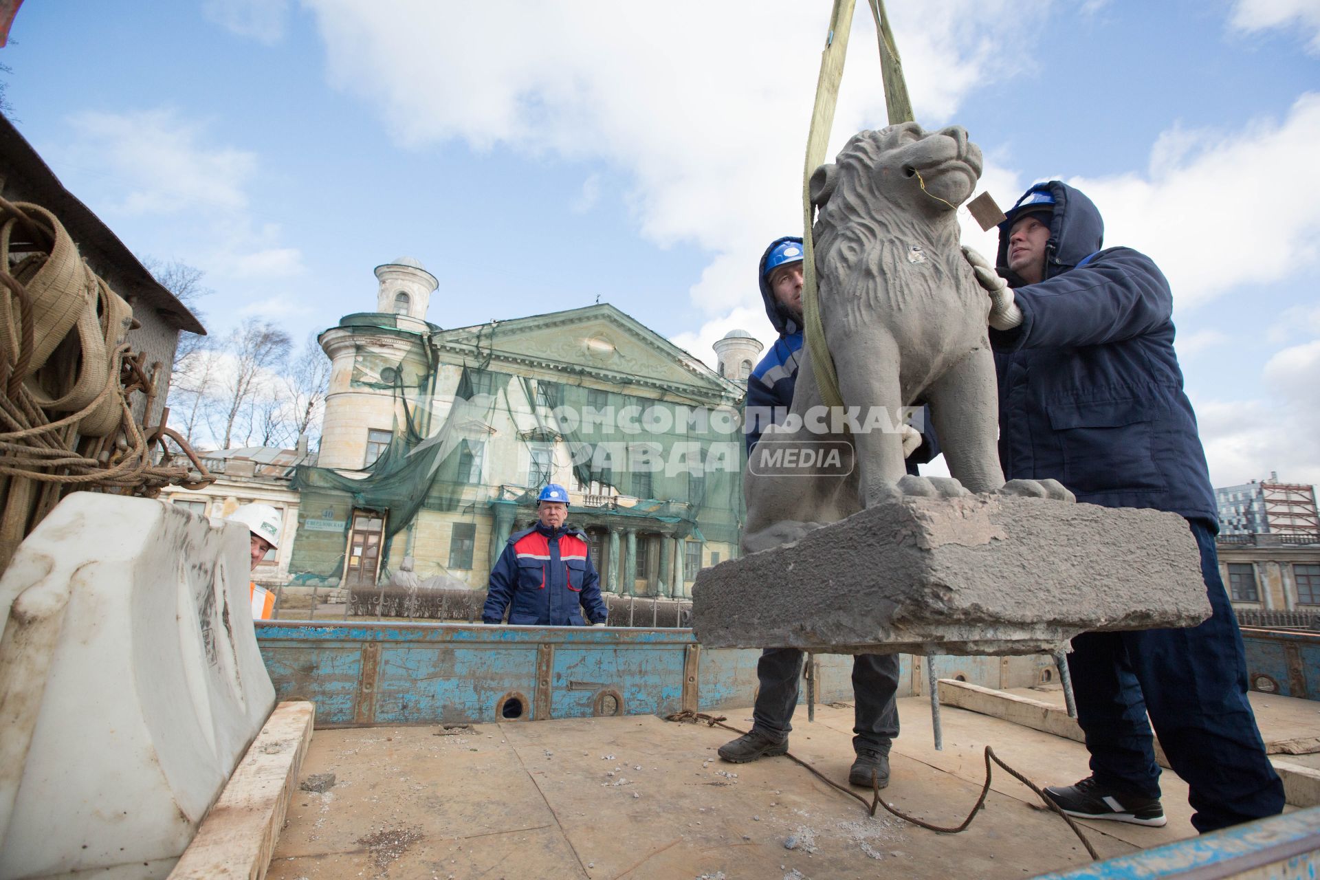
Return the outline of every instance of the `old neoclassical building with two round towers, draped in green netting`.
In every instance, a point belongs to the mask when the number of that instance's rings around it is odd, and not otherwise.
[[[293,579],[375,583],[412,557],[484,587],[548,482],[612,592],[690,595],[737,553],[750,334],[717,344],[717,372],[607,303],[445,330],[420,263],[375,273],[376,309],[319,336],[330,391],[317,466],[293,480]]]

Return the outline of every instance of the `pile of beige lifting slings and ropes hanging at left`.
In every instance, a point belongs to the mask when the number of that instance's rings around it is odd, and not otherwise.
[[[153,466],[173,433],[133,417],[135,392],[143,417],[152,412],[161,369],[129,352],[136,326],[54,214],[0,199],[0,545],[67,489],[152,495],[189,483],[185,467]]]

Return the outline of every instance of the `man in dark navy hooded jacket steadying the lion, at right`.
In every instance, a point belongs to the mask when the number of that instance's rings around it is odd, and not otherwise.
[[[1164,825],[1154,726],[1188,784],[1192,825],[1212,831],[1282,811],[1283,785],[1246,697],[1214,496],[1173,354],[1172,293],[1150,257],[1101,249],[1102,240],[1092,201],[1051,181],[999,226],[997,270],[968,255],[991,298],[1005,476],[1187,517],[1213,615],[1189,629],[1073,639],[1068,669],[1092,774],[1045,792],[1072,815]]]

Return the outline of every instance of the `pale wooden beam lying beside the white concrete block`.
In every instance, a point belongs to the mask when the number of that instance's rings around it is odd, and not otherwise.
[[[170,880],[265,877],[312,741],[314,719],[315,703],[288,702],[275,707],[202,819]]]

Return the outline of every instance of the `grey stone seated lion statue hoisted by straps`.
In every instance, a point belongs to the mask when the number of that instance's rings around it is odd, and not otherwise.
[[[816,169],[820,315],[843,405],[857,416],[821,418],[804,354],[788,420],[762,435],[748,462],[747,551],[904,495],[1071,497],[1053,480],[1005,489],[990,298],[958,247],[956,218],[981,168],[981,149],[962,128],[904,123],[857,133],[834,164]],[[953,479],[907,474],[899,425],[906,408],[921,404]],[[834,455],[785,456],[789,449]],[[814,464],[804,470],[804,460]]]

